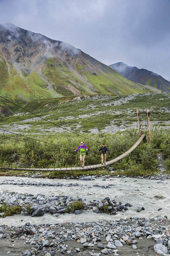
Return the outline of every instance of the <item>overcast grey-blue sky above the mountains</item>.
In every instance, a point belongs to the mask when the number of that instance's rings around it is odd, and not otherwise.
[[[170,81],[170,0],[0,0],[6,22]]]

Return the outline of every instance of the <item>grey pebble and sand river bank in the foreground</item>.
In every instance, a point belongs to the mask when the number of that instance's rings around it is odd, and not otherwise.
[[[0,226],[0,255],[169,255],[169,220],[126,218],[117,221]]]

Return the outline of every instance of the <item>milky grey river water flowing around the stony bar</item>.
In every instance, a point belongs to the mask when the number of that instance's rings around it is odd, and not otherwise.
[[[54,217],[51,214],[44,214],[41,217],[31,217],[25,215],[14,215],[0,219],[0,224],[8,225],[21,225],[21,219],[24,222],[29,221],[31,224],[42,223],[61,223],[61,222],[90,222],[98,220],[118,220],[126,217],[140,217],[151,218],[157,215],[167,215],[170,217],[170,180],[164,180],[161,183],[160,180],[145,180],[137,178],[109,178],[106,180],[95,179],[91,181],[85,180],[65,180],[65,179],[40,179],[40,178],[25,178],[25,177],[0,177],[2,180],[33,180],[37,182],[48,183],[61,183],[65,186],[52,187],[52,186],[27,186],[27,185],[0,185],[0,192],[8,189],[9,191],[28,193],[28,194],[44,194],[45,196],[72,196],[73,198],[86,199],[86,201],[101,200],[106,196],[109,196],[111,200],[115,199],[116,202],[122,202],[122,204],[130,203],[133,206],[129,207],[126,212],[119,212],[117,215],[108,215],[105,213],[95,213],[91,211],[83,212],[80,215],[75,214],[61,214],[58,217]],[[135,181],[137,180],[137,181]],[[134,182],[135,181],[135,182]],[[72,183],[78,183],[80,186],[70,186]],[[114,184],[110,188],[93,187],[93,185],[110,185]],[[145,210],[137,212],[137,207],[144,207]],[[42,207],[42,206],[40,206]],[[159,208],[162,210],[158,211]]]

